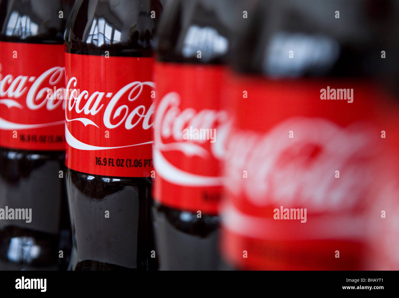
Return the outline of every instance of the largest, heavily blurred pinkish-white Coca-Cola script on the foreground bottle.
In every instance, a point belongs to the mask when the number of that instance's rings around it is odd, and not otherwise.
[[[288,119],[264,134],[237,131],[228,145],[225,183],[235,196],[244,195],[259,207],[348,210],[365,197],[378,175],[376,135],[365,123],[342,128],[304,117]]]

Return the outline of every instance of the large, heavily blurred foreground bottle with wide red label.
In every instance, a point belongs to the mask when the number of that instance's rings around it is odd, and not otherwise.
[[[237,36],[222,211],[235,268],[371,268],[370,207],[398,181],[378,3],[262,1]]]

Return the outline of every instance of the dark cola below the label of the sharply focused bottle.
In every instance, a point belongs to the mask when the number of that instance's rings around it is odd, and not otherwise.
[[[156,268],[149,254],[152,232],[147,229],[151,179],[103,177],[71,169],[66,177],[73,231],[71,269]],[[118,217],[100,224],[105,210]]]

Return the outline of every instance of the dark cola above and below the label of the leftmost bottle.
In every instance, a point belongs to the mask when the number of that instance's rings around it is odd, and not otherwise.
[[[62,44],[71,2],[1,0],[0,41]],[[60,10],[65,18],[58,17]],[[33,214],[31,223],[0,222],[0,270],[67,268],[71,232],[65,185],[57,175],[64,162],[64,151],[0,148],[0,208],[32,208]]]

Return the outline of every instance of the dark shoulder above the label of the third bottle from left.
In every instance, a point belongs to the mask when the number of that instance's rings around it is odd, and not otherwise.
[[[157,32],[157,59],[190,64],[225,64],[233,33],[233,26],[226,17],[232,15],[234,8],[233,2],[226,0],[170,2]]]

